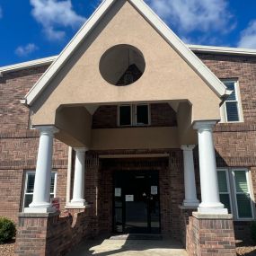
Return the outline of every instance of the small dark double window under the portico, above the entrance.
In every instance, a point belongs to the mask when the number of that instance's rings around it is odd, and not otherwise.
[[[119,126],[147,126],[149,125],[149,105],[120,105]]]

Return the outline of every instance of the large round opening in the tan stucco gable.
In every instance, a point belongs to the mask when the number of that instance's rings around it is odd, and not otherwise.
[[[143,75],[145,66],[140,50],[126,44],[108,49],[100,60],[102,77],[117,86],[135,83]]]

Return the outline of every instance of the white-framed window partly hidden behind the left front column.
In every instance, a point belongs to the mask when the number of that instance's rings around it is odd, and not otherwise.
[[[35,172],[26,172],[25,184],[24,184],[24,196],[23,196],[23,209],[29,207],[33,199],[35,183]],[[57,172],[51,172],[50,180],[50,198],[56,197],[56,184],[57,184]]]

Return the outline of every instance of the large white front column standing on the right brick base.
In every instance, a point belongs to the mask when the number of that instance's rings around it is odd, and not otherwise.
[[[207,214],[227,214],[219,200],[216,172],[216,155],[213,142],[213,127],[216,121],[196,122],[199,136],[199,166],[202,202],[198,211]]]

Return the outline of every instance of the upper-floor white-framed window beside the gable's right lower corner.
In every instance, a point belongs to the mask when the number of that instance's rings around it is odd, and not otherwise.
[[[237,81],[223,81],[226,88],[233,91],[222,105],[222,121],[238,122],[242,121],[242,105],[239,95],[239,87]]]

